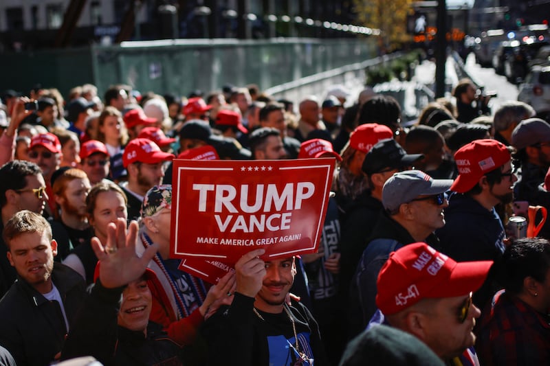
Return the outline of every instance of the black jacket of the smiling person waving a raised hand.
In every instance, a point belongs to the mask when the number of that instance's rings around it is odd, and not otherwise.
[[[123,289],[104,288],[96,282],[67,336],[61,359],[94,356],[105,366],[183,365],[181,347],[161,325],[150,321],[145,336],[117,324]]]

